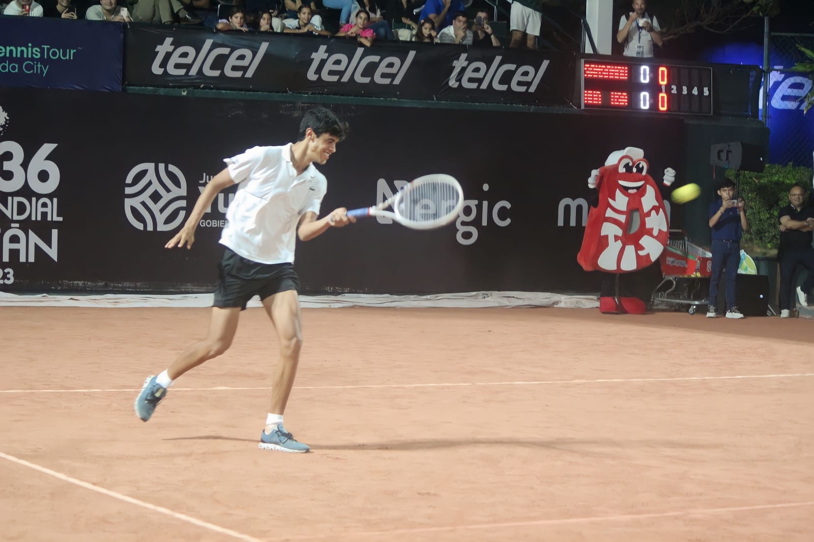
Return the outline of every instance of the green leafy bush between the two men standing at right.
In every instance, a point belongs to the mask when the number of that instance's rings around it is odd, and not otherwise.
[[[736,173],[727,172],[735,180]],[[746,202],[749,231],[743,233],[743,249],[751,256],[774,256],[780,242],[777,213],[789,204],[794,185],[812,189],[812,169],[767,164],[763,173],[741,172],[740,197]]]

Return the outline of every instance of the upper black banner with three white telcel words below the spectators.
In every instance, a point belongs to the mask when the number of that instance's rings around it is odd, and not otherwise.
[[[128,85],[567,106],[575,55],[133,25]]]

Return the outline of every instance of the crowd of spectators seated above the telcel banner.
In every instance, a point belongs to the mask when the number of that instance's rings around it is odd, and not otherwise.
[[[8,3],[5,3],[8,2]],[[318,2],[318,4],[317,4]],[[512,38],[472,0],[0,0],[3,15],[127,24],[188,24],[221,32],[536,48],[542,0],[514,0]],[[5,5],[4,5],[5,3]],[[467,9],[467,7],[469,9]],[[493,11],[492,11],[493,12]],[[494,28],[493,28],[494,27]],[[515,34],[519,34],[517,40]],[[526,39],[521,39],[523,35]]]

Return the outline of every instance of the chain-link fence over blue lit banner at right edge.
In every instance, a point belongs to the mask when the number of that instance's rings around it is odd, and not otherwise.
[[[770,41],[772,71],[768,84],[768,128],[772,130],[772,155],[775,164],[811,168],[814,152],[814,108],[803,115],[800,98],[812,88],[814,72],[791,72],[794,63],[814,62],[798,46],[814,50],[814,34],[772,33]]]

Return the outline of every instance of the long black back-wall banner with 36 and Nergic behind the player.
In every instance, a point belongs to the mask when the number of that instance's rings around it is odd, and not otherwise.
[[[290,142],[307,107],[0,89],[0,290],[212,291],[235,187],[212,203],[191,250],[164,243],[223,158]],[[456,177],[466,203],[443,229],[370,218],[298,243],[304,293],[596,292],[599,278],[576,263],[591,170],[639,146],[657,181],[667,167],[686,181],[681,119],[433,110],[428,129],[411,107],[331,108],[351,133],[320,167],[321,216],[379,203],[427,173]],[[141,112],[113,126],[85,114],[94,109]]]

